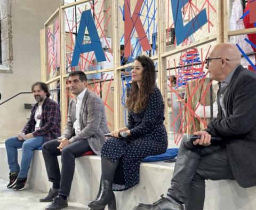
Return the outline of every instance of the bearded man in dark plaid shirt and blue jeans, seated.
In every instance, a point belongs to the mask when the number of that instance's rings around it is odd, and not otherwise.
[[[18,136],[5,141],[10,168],[10,182],[7,188],[14,187],[14,191],[23,190],[25,187],[34,150],[40,148],[44,142],[60,136],[60,107],[49,99],[51,94],[47,85],[37,82],[32,85],[31,92],[37,103],[31,110],[27,124]],[[20,148],[22,148],[21,166],[18,164],[17,152]]]

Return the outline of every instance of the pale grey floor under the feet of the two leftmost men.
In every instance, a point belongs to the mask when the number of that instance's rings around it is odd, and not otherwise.
[[[31,190],[25,188],[22,191],[13,191],[7,189],[8,181],[0,179],[0,209],[1,210],[43,210],[49,203],[40,203],[40,197],[44,197],[45,193],[39,190]],[[68,202],[68,207],[65,210],[87,210],[88,207],[78,203]]]

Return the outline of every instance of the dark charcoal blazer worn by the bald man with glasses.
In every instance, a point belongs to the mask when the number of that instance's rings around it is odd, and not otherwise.
[[[256,185],[255,84],[255,72],[238,66],[223,101],[227,117],[222,116],[218,101],[218,118],[213,119],[206,129],[213,136],[222,138],[231,171],[238,184],[244,188]]]

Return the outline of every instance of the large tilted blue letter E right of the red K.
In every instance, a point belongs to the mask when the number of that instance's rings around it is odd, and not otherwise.
[[[171,0],[172,15],[175,27],[175,38],[177,45],[182,43],[190,35],[194,34],[207,22],[206,10],[202,10],[195,18],[190,20],[186,26],[183,25],[181,9],[188,3],[188,0]]]

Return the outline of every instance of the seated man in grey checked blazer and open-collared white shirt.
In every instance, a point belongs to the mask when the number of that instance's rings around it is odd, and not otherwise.
[[[100,155],[105,133],[108,133],[103,102],[99,96],[86,88],[83,71],[69,74],[70,91],[75,95],[69,102],[68,122],[65,132],[57,140],[43,144],[43,156],[49,181],[53,183],[49,194],[41,202],[52,201],[46,209],[68,206],[67,197],[75,171],[75,158],[93,150]],[[61,173],[57,156],[61,155]],[[57,197],[58,196],[58,197]]]

